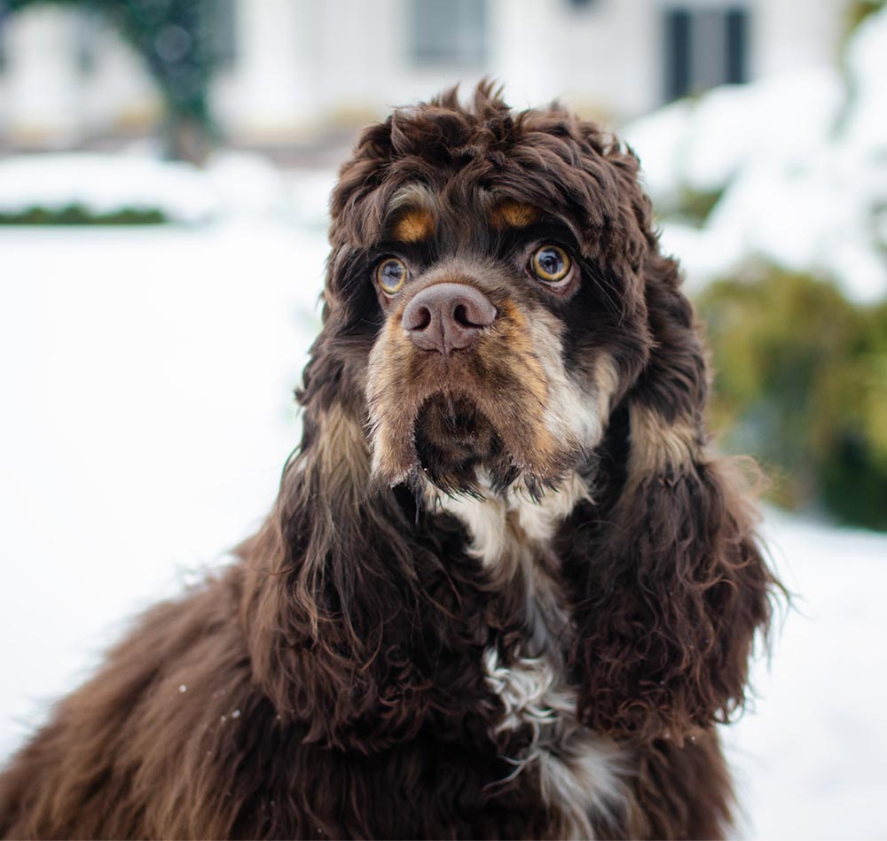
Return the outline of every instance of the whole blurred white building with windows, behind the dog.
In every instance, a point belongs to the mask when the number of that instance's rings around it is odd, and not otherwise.
[[[834,64],[846,0],[217,0],[213,90],[233,140],[351,125],[484,74],[513,105],[619,121],[670,98]],[[0,8],[3,2],[0,0]],[[67,145],[161,114],[111,27],[36,4],[0,18],[0,141]]]

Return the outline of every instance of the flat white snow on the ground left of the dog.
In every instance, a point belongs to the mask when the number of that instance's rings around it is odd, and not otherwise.
[[[239,222],[0,229],[0,253],[5,752],[270,509],[326,245]]]

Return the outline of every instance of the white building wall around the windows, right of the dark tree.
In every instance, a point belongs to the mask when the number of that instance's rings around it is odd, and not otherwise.
[[[459,66],[413,58],[412,0],[239,0],[244,37],[232,74],[237,81],[226,82],[223,97],[231,128],[286,134],[329,121],[365,120],[456,82],[470,90],[484,75],[502,82],[515,106],[562,98],[618,121],[663,103],[668,9],[747,8],[754,79],[834,63],[845,6],[845,0],[488,3],[487,57]],[[261,74],[251,69],[256,65]],[[268,107],[260,107],[266,97]]]

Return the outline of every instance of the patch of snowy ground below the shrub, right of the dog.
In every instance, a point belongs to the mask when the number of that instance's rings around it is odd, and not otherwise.
[[[887,535],[768,510],[765,540],[795,594],[757,661],[757,700],[724,728],[746,814],[739,837],[883,838],[887,815]]]

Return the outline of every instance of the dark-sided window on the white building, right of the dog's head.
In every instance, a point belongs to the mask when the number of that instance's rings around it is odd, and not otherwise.
[[[665,98],[748,82],[749,12],[742,6],[665,12]]]

